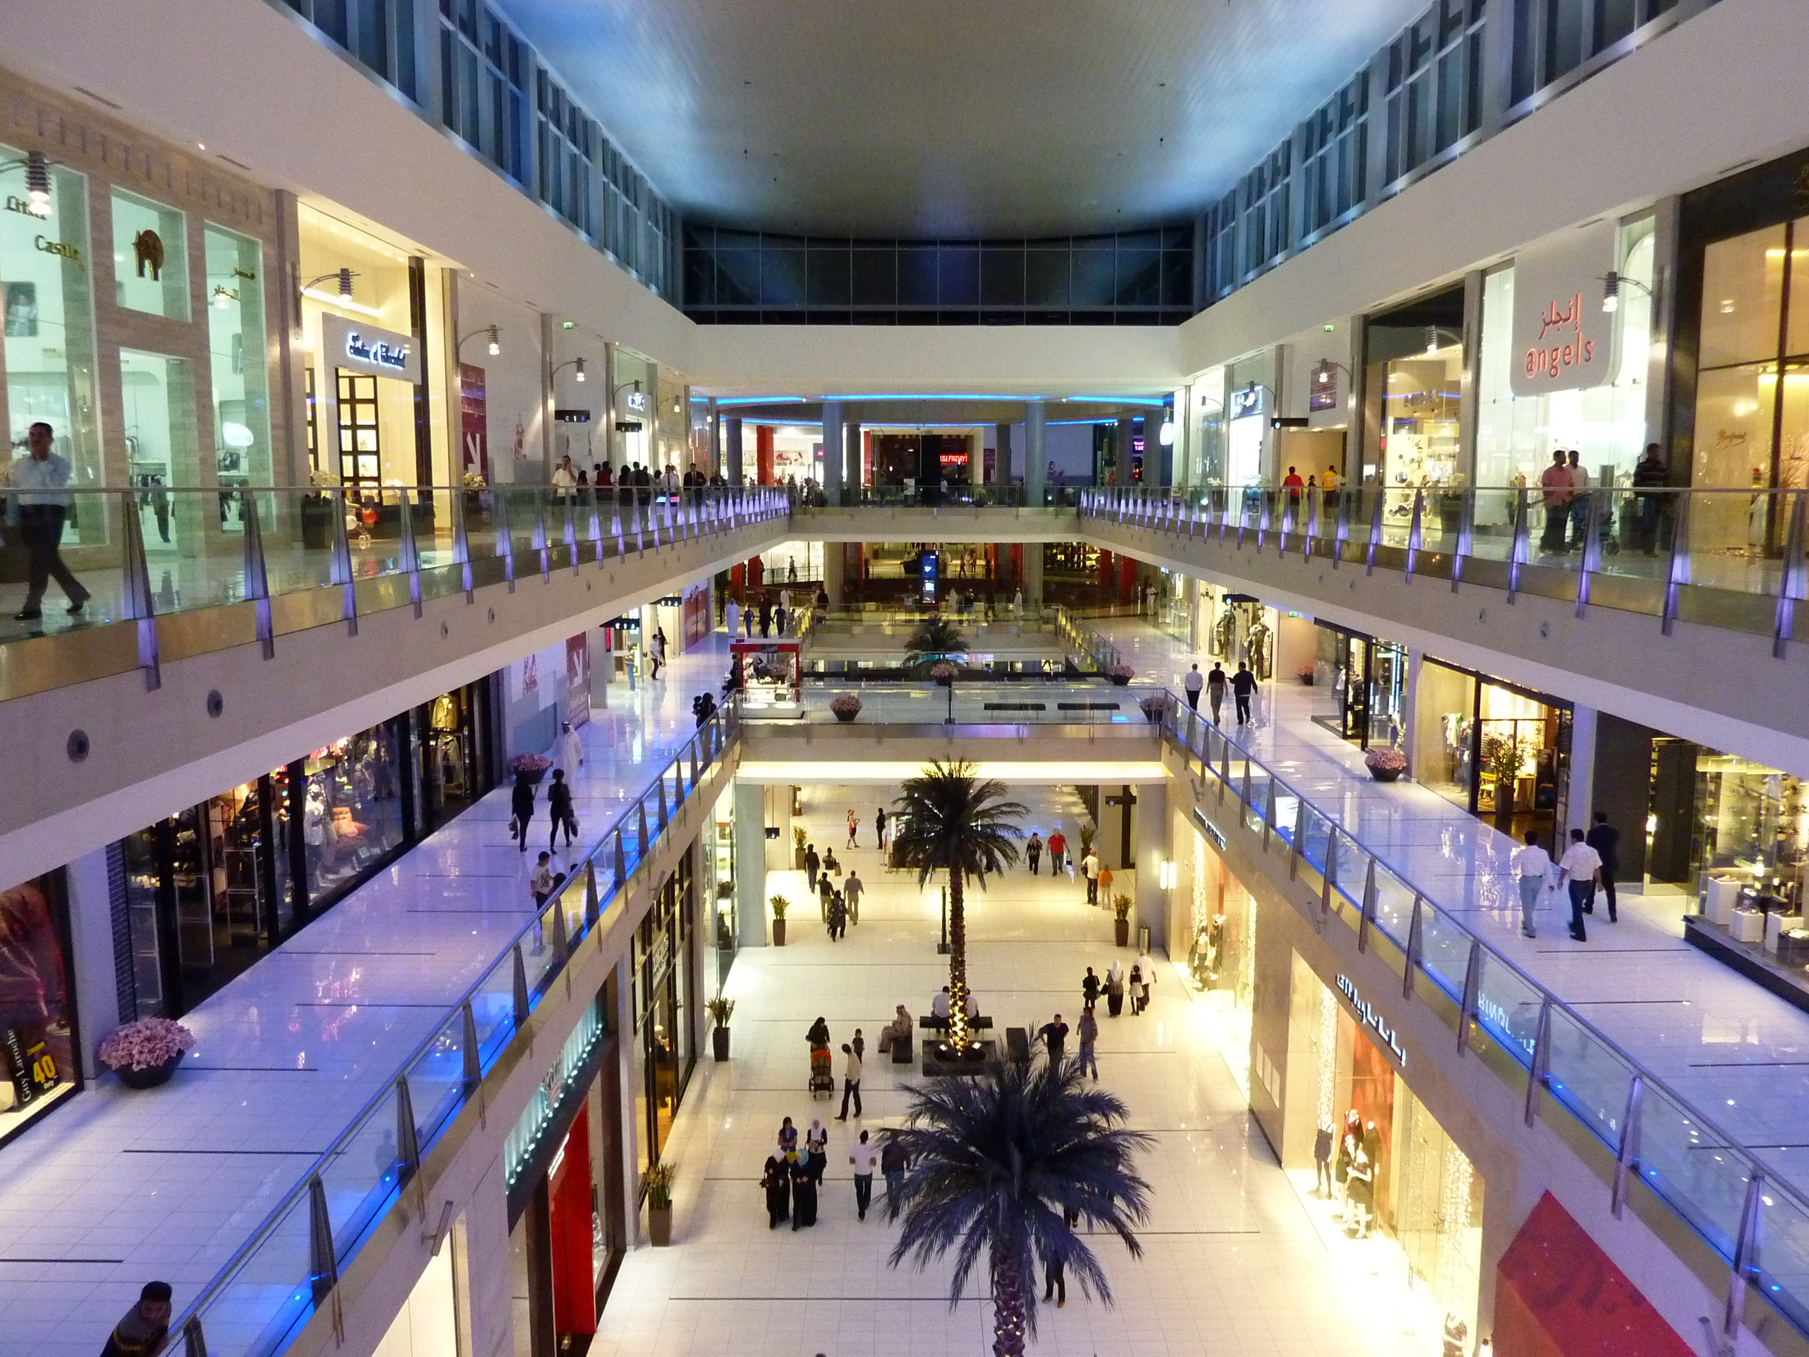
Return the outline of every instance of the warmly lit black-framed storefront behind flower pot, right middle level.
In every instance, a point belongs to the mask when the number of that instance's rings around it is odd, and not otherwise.
[[[1565,823],[1570,704],[1427,659],[1415,702],[1413,774],[1503,834],[1547,849]]]

